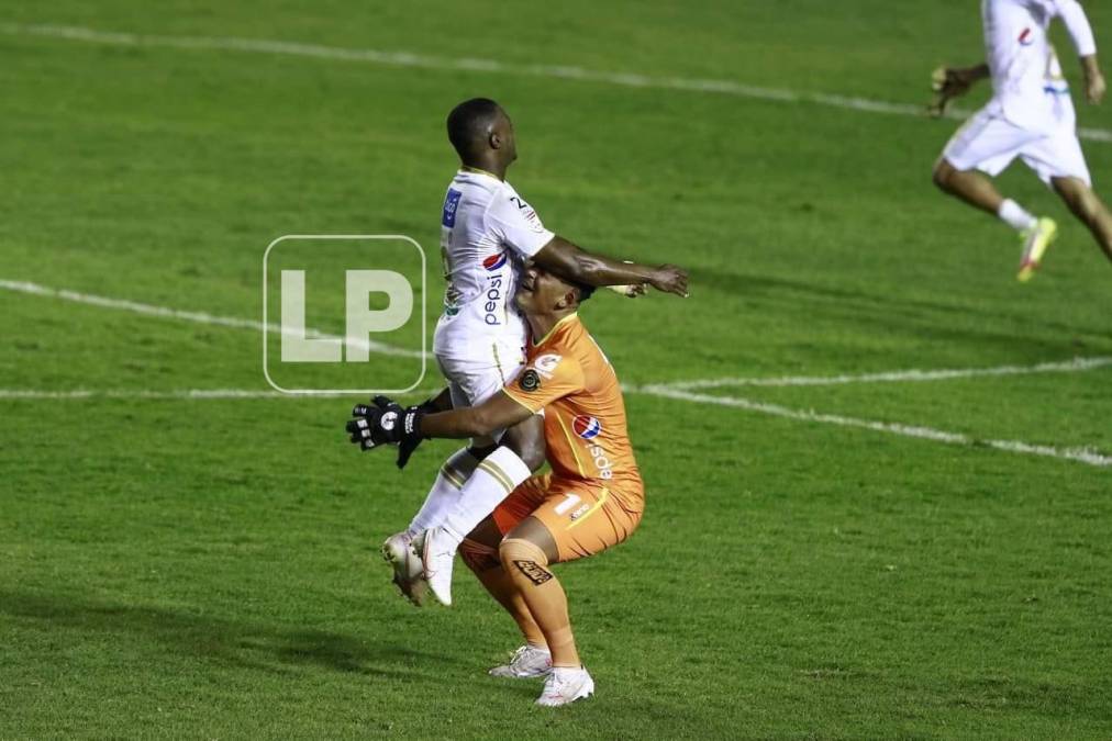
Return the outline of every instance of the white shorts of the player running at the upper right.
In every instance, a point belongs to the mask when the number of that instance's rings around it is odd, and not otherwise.
[[[1076,178],[1092,186],[1076,131],[1065,123],[1049,132],[1032,131],[982,109],[954,133],[942,157],[956,170],[993,177],[1019,157],[1048,186],[1051,178]]]

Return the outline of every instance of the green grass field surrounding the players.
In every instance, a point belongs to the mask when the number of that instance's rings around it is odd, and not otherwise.
[[[1006,173],[1063,227],[1016,283],[1012,234],[931,186],[955,121],[530,71],[916,104],[979,53],[957,0],[6,3],[0,738],[1112,737],[1112,366],[654,388],[1106,359],[1088,232]],[[583,312],[631,389],[647,512],[557,568],[597,695],[556,712],[486,677],[517,635],[461,567],[455,607],[416,610],[378,559],[453,444],[399,473],[347,444],[351,399],[183,397],[267,391],[246,324],[14,290],[251,322],[278,236],[434,249],[444,117],[476,94],[514,117],[546,226],[692,274],[687,301]],[[1084,143],[1108,189],[1112,143]]]

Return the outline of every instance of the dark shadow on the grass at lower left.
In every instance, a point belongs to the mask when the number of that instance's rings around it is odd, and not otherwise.
[[[369,643],[324,630],[284,630],[161,608],[108,604],[80,598],[0,590],[0,614],[98,634],[119,633],[185,655],[235,667],[282,672],[291,665],[386,678],[414,678],[416,664],[443,665],[447,657],[401,644]],[[414,667],[408,669],[407,667]]]

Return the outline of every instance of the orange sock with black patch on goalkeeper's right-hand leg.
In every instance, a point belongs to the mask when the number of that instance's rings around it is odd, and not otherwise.
[[[575,650],[572,621],[567,615],[567,595],[559,580],[547,569],[545,552],[527,540],[510,538],[502,541],[498,555],[503,569],[545,635],[553,654],[553,665],[578,668],[579,653]]]

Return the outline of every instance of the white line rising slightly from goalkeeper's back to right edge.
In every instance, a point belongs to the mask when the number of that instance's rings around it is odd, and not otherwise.
[[[1039,363],[1036,366],[999,366],[996,368],[953,368],[941,370],[901,370],[858,375],[783,375],[781,378],[711,378],[694,381],[654,383],[654,388],[669,388],[682,391],[697,389],[721,389],[735,385],[787,387],[787,385],[842,385],[845,383],[896,383],[915,381],[946,381],[961,378],[992,375],[1030,375],[1033,373],[1075,373],[1112,366],[1112,357],[1074,358],[1062,362]]]

